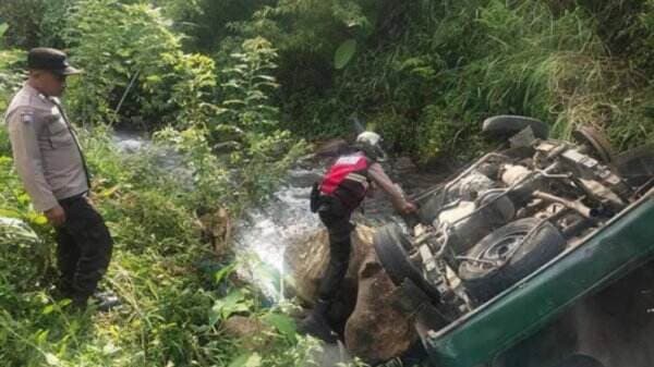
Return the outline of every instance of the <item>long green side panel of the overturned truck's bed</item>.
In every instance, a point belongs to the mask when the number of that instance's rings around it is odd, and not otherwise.
[[[654,256],[654,191],[557,258],[448,327],[423,335],[437,367],[489,365],[577,301]]]

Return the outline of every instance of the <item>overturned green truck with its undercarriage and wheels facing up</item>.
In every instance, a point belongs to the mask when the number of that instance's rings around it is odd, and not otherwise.
[[[523,117],[483,131],[504,146],[374,238],[432,364],[652,366],[654,149]]]

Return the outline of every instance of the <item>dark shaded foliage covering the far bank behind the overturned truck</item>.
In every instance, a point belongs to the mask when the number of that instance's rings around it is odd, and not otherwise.
[[[203,19],[217,16],[209,3],[195,3]],[[234,39],[268,38],[284,122],[308,136],[350,134],[353,112],[421,160],[476,154],[480,122],[498,113],[540,118],[561,136],[591,123],[620,148],[654,136],[652,1],[302,0],[247,10],[250,20],[210,23],[222,42],[205,51],[220,60]],[[206,24],[186,30],[216,39]]]

